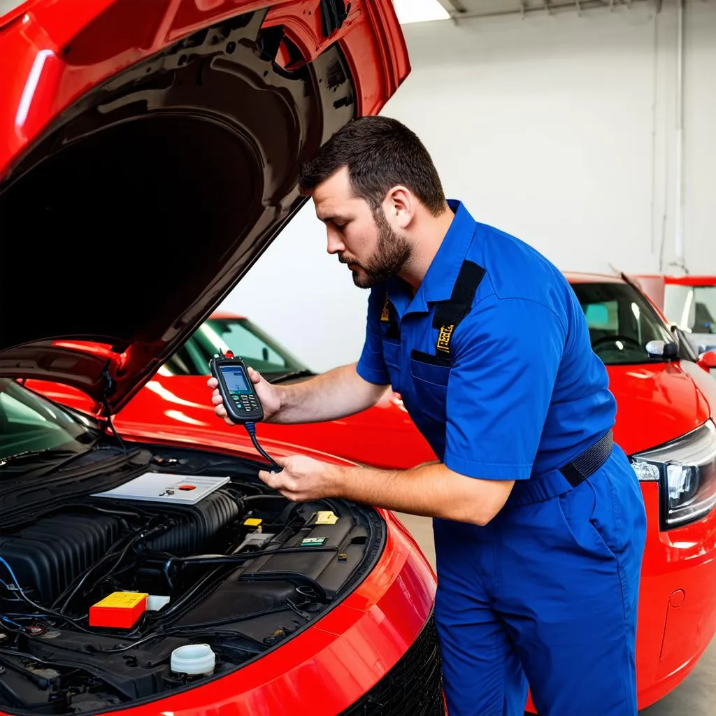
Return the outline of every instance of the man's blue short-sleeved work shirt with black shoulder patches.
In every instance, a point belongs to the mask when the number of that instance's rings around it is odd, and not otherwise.
[[[616,402],[560,271],[526,243],[477,223],[462,203],[448,203],[455,217],[415,296],[397,276],[371,289],[357,372],[400,392],[450,470],[527,480],[609,432]],[[437,356],[432,314],[435,301],[450,299],[465,259],[485,274],[446,360]],[[397,339],[380,320],[386,294]]]

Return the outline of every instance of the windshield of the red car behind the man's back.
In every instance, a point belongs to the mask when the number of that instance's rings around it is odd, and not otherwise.
[[[649,341],[674,337],[644,296],[629,284],[572,284],[581,304],[594,352],[606,365],[652,363]]]

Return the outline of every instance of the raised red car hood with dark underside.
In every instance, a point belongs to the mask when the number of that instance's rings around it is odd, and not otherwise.
[[[391,0],[37,0],[0,52],[0,377],[105,414],[298,210],[301,162],[410,69]]]

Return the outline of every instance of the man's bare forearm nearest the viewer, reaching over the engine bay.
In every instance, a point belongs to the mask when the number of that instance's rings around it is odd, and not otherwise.
[[[442,463],[410,470],[336,467],[335,496],[376,507],[475,525],[487,524],[505,505],[513,480],[479,480]]]

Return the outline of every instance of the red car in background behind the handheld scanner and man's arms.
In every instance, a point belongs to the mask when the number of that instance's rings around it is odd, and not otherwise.
[[[109,354],[106,347],[98,345],[56,343],[72,344],[78,350],[95,354]],[[180,429],[193,425],[223,430],[226,423],[216,418],[206,387],[210,375],[208,362],[219,349],[241,356],[270,382],[294,382],[315,375],[253,321],[227,311],[215,311],[115,417],[114,424],[120,434],[141,432],[145,425],[173,425]],[[28,380],[25,384],[77,410],[92,414],[101,410],[101,405],[95,405],[86,393],[76,388],[38,380]],[[229,427],[231,434],[240,431],[240,428]],[[259,423],[256,434],[259,440],[290,442],[377,468],[412,468],[437,459],[407,415],[400,395],[392,390],[387,390],[374,407],[357,415],[306,425]]]

